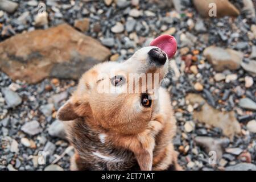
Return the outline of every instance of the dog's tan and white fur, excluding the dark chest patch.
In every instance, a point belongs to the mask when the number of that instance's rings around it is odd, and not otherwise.
[[[109,82],[109,79],[101,79],[98,76],[100,73],[110,75],[110,69],[114,69],[115,75],[125,76],[127,82],[128,74],[134,72],[160,73],[162,80],[167,72],[168,61],[162,67],[152,67],[147,64],[148,49],[138,51],[125,63],[103,63],[84,73],[76,92],[59,110],[57,117],[61,120],[73,119],[65,122],[68,138],[77,149],[72,158],[71,169],[86,169],[84,163],[92,160],[82,154],[81,144],[78,146],[73,142],[82,140],[82,133],[76,126],[79,121],[86,123],[93,134],[102,134],[105,146],[131,151],[141,170],[165,170],[170,165],[181,169],[177,164],[177,154],[172,144],[176,121],[166,89],[159,89],[159,98],[152,100],[152,105],[148,108],[139,105],[141,93],[112,94],[98,93],[97,90],[101,84]],[[101,155],[99,150],[96,148],[92,153]]]

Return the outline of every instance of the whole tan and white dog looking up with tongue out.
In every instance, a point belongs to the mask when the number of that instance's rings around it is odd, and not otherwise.
[[[123,63],[101,63],[82,75],[57,112],[75,148],[71,170],[181,170],[172,144],[176,120],[170,95],[159,87],[168,72],[167,39],[162,36]],[[146,77],[143,84],[142,77],[129,74],[158,77]],[[131,92],[124,92],[127,88]]]

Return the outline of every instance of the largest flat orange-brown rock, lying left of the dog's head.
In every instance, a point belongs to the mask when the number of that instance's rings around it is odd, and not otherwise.
[[[110,56],[108,48],[68,24],[19,34],[0,43],[0,68],[13,80],[78,79]]]

